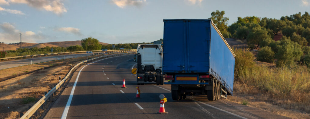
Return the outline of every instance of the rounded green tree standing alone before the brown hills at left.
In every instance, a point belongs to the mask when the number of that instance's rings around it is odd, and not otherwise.
[[[102,45],[99,43],[98,39],[88,37],[85,39],[82,39],[82,47],[85,50],[91,51],[91,50],[100,50]]]

